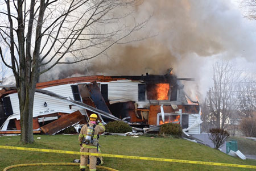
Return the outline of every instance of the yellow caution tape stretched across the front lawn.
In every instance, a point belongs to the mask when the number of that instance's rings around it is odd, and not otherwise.
[[[89,156],[115,157],[115,158],[123,158],[123,159],[181,162],[181,163],[188,163],[188,164],[201,164],[201,165],[211,165],[211,166],[228,166],[228,167],[236,167],[236,168],[256,169],[256,166],[253,166],[253,165],[228,164],[228,163],[221,163],[221,162],[205,162],[205,161],[192,161],[192,160],[163,159],[163,158],[154,158],[154,157],[109,155],[109,154],[102,154],[102,153],[73,152],[73,151],[62,151],[62,150],[55,150],[55,149],[12,147],[12,146],[4,146],[4,145],[0,145],[0,148],[18,149],[18,150],[24,150],[24,151],[48,152],[48,153],[64,153],[64,154],[71,154],[71,155],[89,155]]]

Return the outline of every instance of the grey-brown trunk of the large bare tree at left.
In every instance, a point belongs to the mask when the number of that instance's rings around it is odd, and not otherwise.
[[[20,141],[22,143],[33,143],[33,106],[34,106],[34,95],[36,88],[36,81],[38,80],[38,60],[39,60],[39,52],[41,45],[41,30],[43,23],[43,16],[45,11],[44,1],[40,1],[40,10],[39,10],[39,19],[38,24],[36,26],[36,41],[35,41],[35,49],[33,53],[33,57],[31,57],[31,35],[32,35],[32,25],[34,19],[34,4],[35,1],[31,1],[31,9],[30,9],[30,22],[28,24],[28,34],[26,40],[26,48],[24,44],[19,45],[20,51],[20,78],[18,88],[19,95],[19,103],[20,103],[20,129],[21,129],[21,137]],[[20,18],[22,18],[20,16]],[[22,32],[24,34],[24,32]],[[23,35],[24,37],[24,35]],[[22,37],[22,38],[23,38]],[[22,43],[24,43],[25,39],[22,39]],[[26,49],[26,53],[25,53]],[[26,54],[26,55],[25,55]],[[19,86],[18,86],[19,85]]]

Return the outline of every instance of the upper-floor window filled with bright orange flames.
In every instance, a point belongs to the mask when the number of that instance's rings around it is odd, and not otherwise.
[[[168,100],[170,94],[170,85],[168,83],[147,84],[148,100]]]

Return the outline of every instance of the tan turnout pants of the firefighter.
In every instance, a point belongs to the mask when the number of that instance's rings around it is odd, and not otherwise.
[[[97,149],[81,147],[80,152],[97,153]],[[89,156],[89,159],[90,159],[90,166],[89,166],[90,171],[96,170],[96,163],[97,163],[96,156]],[[82,169],[82,168],[85,169],[87,164],[88,164],[88,156],[81,155],[80,169]]]

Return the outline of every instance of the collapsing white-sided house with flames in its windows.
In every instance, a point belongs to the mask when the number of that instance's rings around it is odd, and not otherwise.
[[[55,134],[86,123],[93,112],[108,123],[123,120],[133,127],[177,123],[185,134],[200,134],[200,106],[189,99],[174,74],[145,76],[85,76],[36,85],[34,131]],[[20,130],[19,101],[14,86],[0,91],[5,118],[2,134]],[[188,101],[192,104],[188,104]]]

